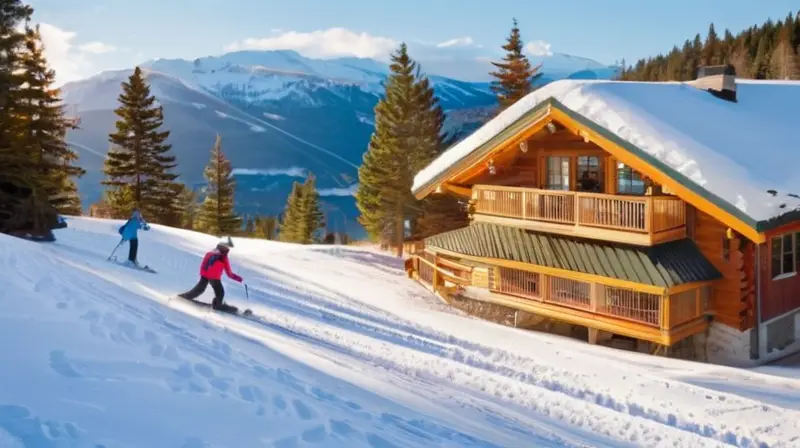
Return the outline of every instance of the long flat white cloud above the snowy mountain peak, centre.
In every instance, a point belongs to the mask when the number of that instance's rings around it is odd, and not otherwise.
[[[398,42],[388,37],[328,28],[309,33],[286,31],[276,36],[247,38],[226,46],[225,50],[296,50],[312,58],[356,56],[386,60],[397,46]]]

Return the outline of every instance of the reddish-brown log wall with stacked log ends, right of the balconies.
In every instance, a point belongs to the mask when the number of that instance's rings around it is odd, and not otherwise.
[[[714,285],[710,309],[720,323],[746,330],[752,327],[755,294],[753,245],[739,238],[727,238],[727,226],[711,215],[687,204],[692,238],[700,252],[721,273]]]

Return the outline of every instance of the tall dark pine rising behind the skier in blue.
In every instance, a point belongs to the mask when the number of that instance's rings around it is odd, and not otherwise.
[[[156,105],[142,70],[136,67],[122,84],[116,131],[109,134],[112,148],[106,156],[104,185],[109,205],[117,217],[126,217],[138,207],[152,222],[162,223],[180,216],[175,194],[178,175],[172,145],[165,143],[169,131],[161,131],[163,108]]]

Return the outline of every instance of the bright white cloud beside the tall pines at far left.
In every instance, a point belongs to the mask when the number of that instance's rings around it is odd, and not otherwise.
[[[39,31],[44,44],[44,55],[56,72],[56,86],[77,81],[90,73],[92,63],[89,55],[113,51],[113,46],[103,42],[75,44],[77,34],[49,23],[40,23]]]

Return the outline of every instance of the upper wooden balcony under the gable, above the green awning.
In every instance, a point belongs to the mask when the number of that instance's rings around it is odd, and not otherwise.
[[[673,196],[621,196],[475,185],[476,221],[652,246],[686,237],[686,204]]]

